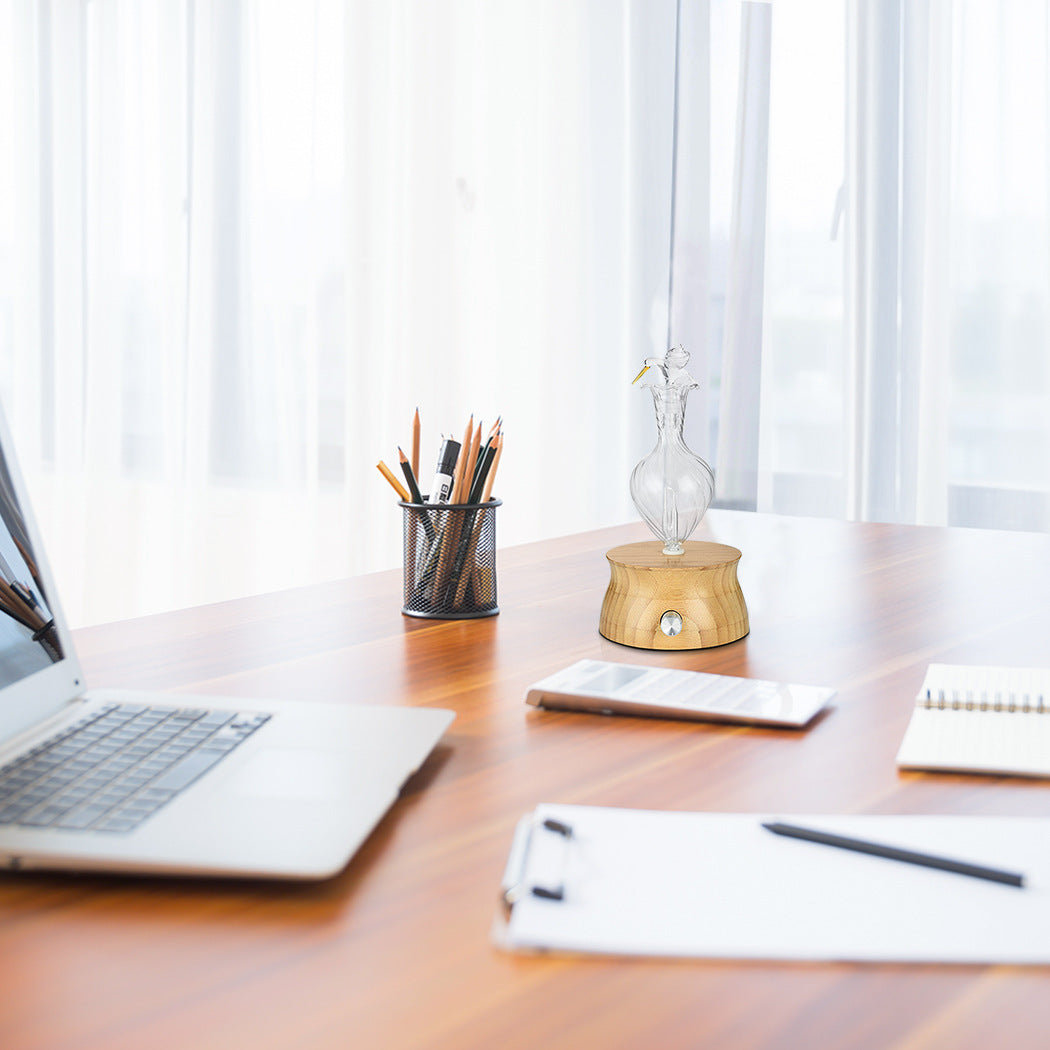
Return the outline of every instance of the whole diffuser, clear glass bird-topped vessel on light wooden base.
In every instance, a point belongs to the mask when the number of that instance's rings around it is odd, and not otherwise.
[[[614,547],[602,603],[601,633],[638,649],[706,649],[748,633],[748,608],[736,578],[740,551],[689,540],[714,498],[711,467],[684,437],[686,399],[698,383],[681,348],[646,359],[646,383],[656,411],[656,447],[631,472],[631,499],[659,537]]]

